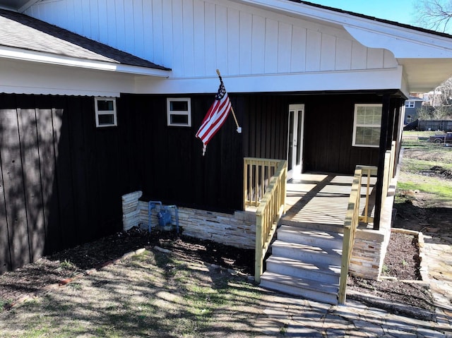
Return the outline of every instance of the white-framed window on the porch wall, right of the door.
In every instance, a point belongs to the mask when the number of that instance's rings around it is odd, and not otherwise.
[[[355,104],[352,145],[379,147],[382,107],[382,104]]]

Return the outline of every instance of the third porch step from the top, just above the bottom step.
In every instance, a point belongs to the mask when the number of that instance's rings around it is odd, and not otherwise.
[[[266,260],[267,272],[285,274],[301,279],[314,279],[330,284],[339,284],[340,265],[327,262],[302,262],[291,258],[272,255]]]

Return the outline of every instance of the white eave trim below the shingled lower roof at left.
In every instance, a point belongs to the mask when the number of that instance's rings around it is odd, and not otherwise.
[[[142,76],[156,76],[168,78],[171,71],[156,68],[139,66],[129,66],[124,64],[114,64],[113,62],[95,61],[88,59],[71,58],[49,53],[28,51],[12,47],[0,47],[0,58],[17,59],[23,61],[40,62],[44,64],[54,64],[59,66],[71,66],[78,68],[90,68],[99,71],[114,71],[119,73],[129,73]]]

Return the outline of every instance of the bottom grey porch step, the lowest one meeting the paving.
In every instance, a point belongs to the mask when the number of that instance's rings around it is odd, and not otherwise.
[[[299,279],[273,272],[264,272],[261,276],[261,286],[280,291],[285,294],[302,296],[322,303],[338,303],[338,285],[319,282],[312,279]]]

